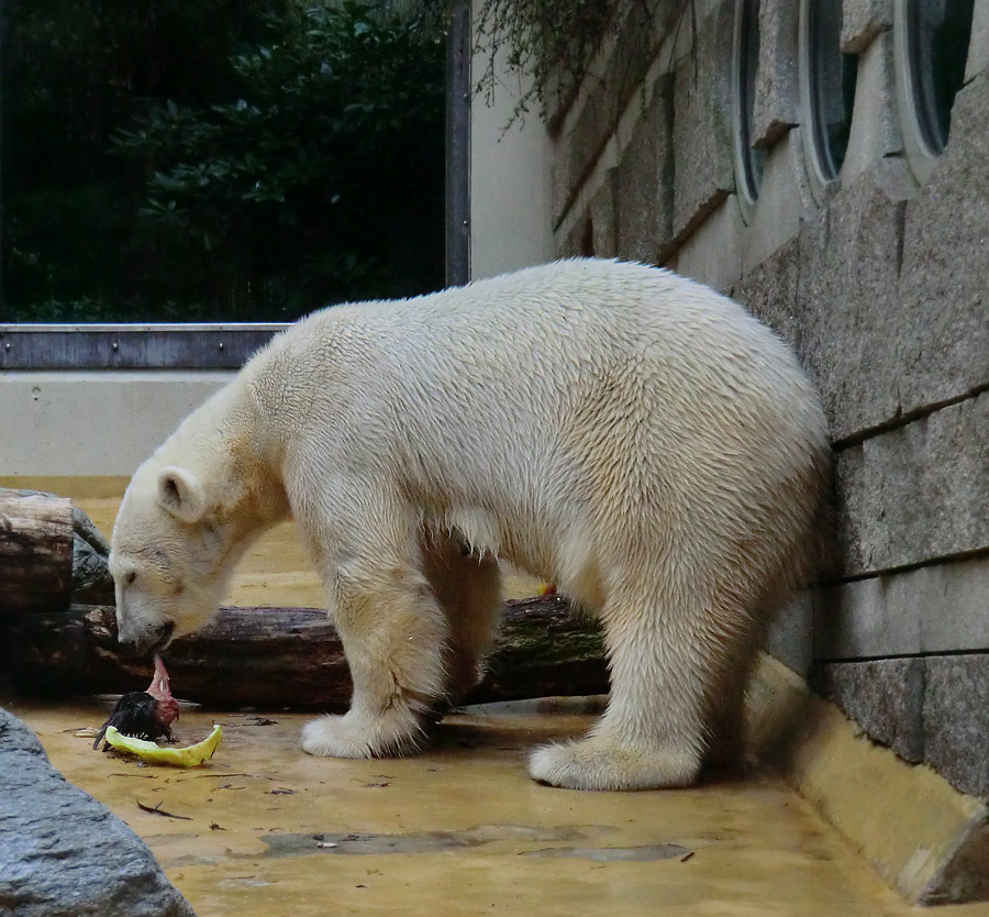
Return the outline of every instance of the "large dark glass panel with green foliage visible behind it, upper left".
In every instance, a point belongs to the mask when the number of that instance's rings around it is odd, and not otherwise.
[[[443,285],[442,0],[3,0],[0,322]]]

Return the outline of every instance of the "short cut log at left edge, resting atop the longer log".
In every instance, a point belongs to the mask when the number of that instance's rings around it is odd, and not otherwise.
[[[0,488],[0,616],[64,611],[71,582],[71,500]]]

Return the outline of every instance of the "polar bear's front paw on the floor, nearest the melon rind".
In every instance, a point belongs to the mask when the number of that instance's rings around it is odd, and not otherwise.
[[[392,758],[414,751],[421,738],[419,720],[408,709],[379,717],[352,710],[308,722],[302,750],[320,758]]]

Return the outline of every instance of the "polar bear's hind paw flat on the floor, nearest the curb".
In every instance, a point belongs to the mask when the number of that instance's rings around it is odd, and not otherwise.
[[[601,737],[543,745],[529,759],[533,780],[569,789],[689,786],[699,770],[699,756],[693,750],[640,750]]]

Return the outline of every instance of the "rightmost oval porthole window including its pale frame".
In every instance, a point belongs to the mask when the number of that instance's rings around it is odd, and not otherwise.
[[[903,144],[921,183],[947,145],[952,107],[965,82],[975,0],[896,3],[897,96]]]

